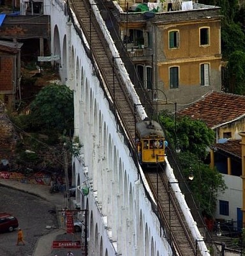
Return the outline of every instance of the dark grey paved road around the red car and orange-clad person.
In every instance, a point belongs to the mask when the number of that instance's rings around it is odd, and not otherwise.
[[[38,239],[58,227],[54,205],[38,196],[0,186],[0,212],[11,212],[24,232],[25,246],[16,246],[17,230],[0,234],[1,256],[33,255]],[[52,211],[51,211],[52,212]]]

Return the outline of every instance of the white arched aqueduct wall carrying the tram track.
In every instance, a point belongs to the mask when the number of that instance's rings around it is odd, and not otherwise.
[[[76,196],[77,204],[88,210],[89,255],[172,255],[169,244],[160,236],[158,219],[138,182],[137,168],[124,137],[117,131],[109,102],[93,74],[81,39],[63,13],[64,4],[56,1],[45,4],[51,15],[52,54],[61,53],[61,77],[74,92],[75,136],[83,148],[80,157],[73,159],[73,174],[75,184],[87,184],[91,189],[87,196],[81,196],[77,189]],[[105,26],[102,20],[100,23]],[[110,40],[109,35],[107,38]],[[126,71],[122,66],[120,69],[128,90],[138,103]],[[145,116],[143,110],[139,109],[142,118]],[[184,207],[190,218],[186,205]],[[192,220],[188,223],[193,236],[200,238],[195,223]],[[204,249],[205,255],[209,255],[207,248]]]

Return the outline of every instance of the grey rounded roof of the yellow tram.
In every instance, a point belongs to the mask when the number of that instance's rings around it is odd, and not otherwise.
[[[136,124],[136,129],[140,138],[147,136],[158,136],[163,138],[165,136],[161,125],[150,119],[138,122]]]

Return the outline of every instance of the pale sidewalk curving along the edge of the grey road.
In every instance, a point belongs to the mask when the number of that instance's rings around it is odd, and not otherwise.
[[[17,189],[20,191],[24,191],[26,193],[39,196],[44,200],[55,205],[57,211],[57,220],[59,223],[59,228],[50,232],[46,236],[40,237],[38,243],[36,244],[36,248],[34,250],[33,256],[53,256],[53,255],[66,255],[68,252],[67,249],[59,249],[54,250],[52,249],[52,242],[55,240],[72,240],[73,234],[66,234],[66,230],[64,227],[61,228],[61,212],[60,209],[63,209],[64,205],[64,196],[63,193],[50,193],[49,186],[40,185],[40,184],[26,184],[19,182],[17,180],[10,180],[10,179],[0,179],[0,184],[6,186],[8,188]],[[74,256],[81,255],[81,252],[76,252],[74,250]]]

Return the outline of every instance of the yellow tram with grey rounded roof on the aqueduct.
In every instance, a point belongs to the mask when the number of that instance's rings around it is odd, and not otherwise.
[[[136,124],[136,143],[139,162],[165,163],[165,134],[158,122],[145,118]]]

